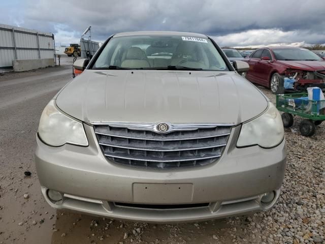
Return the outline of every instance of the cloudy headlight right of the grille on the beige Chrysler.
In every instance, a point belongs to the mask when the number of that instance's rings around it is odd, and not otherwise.
[[[269,102],[269,107],[264,114],[242,125],[237,146],[259,145],[269,148],[280,144],[283,137],[281,115]]]

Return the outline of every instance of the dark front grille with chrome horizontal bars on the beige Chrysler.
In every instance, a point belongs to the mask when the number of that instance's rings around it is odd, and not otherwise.
[[[95,134],[107,159],[123,165],[170,169],[202,166],[221,157],[231,126],[184,127],[169,133],[129,129],[123,124],[94,125]]]

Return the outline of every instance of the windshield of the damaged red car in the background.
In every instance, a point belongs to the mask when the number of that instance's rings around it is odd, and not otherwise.
[[[272,50],[277,60],[321,60],[315,53],[304,48],[275,48]]]

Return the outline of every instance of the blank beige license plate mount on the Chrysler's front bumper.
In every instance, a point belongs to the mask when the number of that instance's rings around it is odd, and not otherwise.
[[[190,203],[193,198],[192,184],[133,184],[133,200],[144,204]]]

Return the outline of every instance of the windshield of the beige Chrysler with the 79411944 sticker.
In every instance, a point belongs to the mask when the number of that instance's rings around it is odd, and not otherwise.
[[[208,38],[182,36],[113,37],[92,69],[228,70]]]

